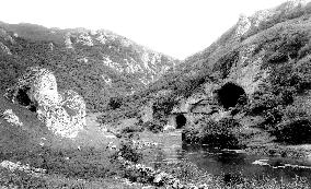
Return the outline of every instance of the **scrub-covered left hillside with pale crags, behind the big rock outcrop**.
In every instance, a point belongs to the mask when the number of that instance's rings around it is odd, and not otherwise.
[[[41,66],[55,72],[60,88],[71,88],[89,110],[108,108],[111,98],[135,94],[178,61],[108,31],[46,28],[0,22],[1,91],[22,72]]]

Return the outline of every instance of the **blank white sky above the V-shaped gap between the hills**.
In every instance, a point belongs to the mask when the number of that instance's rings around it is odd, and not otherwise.
[[[0,21],[110,29],[184,59],[208,47],[241,14],[286,0],[0,0]]]

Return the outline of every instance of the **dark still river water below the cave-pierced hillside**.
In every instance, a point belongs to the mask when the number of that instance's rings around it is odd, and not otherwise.
[[[239,180],[242,177],[291,180],[296,176],[311,180],[311,162],[307,160],[247,155],[241,151],[210,150],[204,146],[162,147],[153,166],[159,168],[162,163],[173,164],[181,160],[187,160],[203,170],[229,180]]]

